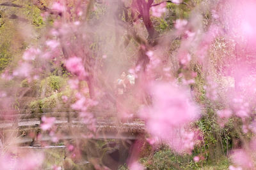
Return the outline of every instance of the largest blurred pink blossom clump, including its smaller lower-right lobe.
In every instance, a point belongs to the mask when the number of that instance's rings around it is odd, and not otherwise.
[[[189,152],[195,145],[195,134],[186,131],[184,126],[199,117],[198,107],[190,101],[190,93],[168,83],[154,83],[150,90],[152,106],[140,112],[147,131],[154,138],[164,139],[175,151]]]

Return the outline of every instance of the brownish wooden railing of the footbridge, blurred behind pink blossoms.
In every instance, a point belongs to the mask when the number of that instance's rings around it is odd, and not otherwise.
[[[0,114],[0,131],[3,134],[10,132],[16,132],[19,140],[16,143],[22,143],[22,145],[33,146],[36,141],[36,137],[31,137],[28,134],[31,132],[38,134],[42,132],[40,129],[41,117],[56,117],[54,126],[57,131],[62,135],[60,141],[68,139],[83,139],[86,136],[72,135],[72,132],[86,132],[88,124],[84,124],[78,117],[76,111],[70,110],[45,110],[44,113],[29,113],[27,111],[15,111],[13,114],[3,114],[3,110]],[[6,113],[12,113],[6,110]],[[93,139],[136,139],[138,135],[145,132],[144,122],[140,120],[132,120],[131,122],[118,122],[111,121],[111,115],[114,113],[99,113],[94,111],[93,114],[97,120],[96,132],[90,138]],[[69,133],[70,132],[70,133]],[[4,136],[4,135],[3,135]],[[89,137],[88,137],[89,138]],[[1,139],[3,140],[3,139]],[[44,137],[40,141],[50,141],[51,137],[44,134]]]

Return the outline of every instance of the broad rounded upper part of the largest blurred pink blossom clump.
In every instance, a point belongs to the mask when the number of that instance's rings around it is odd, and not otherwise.
[[[189,99],[186,89],[167,83],[156,83],[150,88],[154,103],[150,118],[173,126],[187,124],[199,116],[199,110]]]

